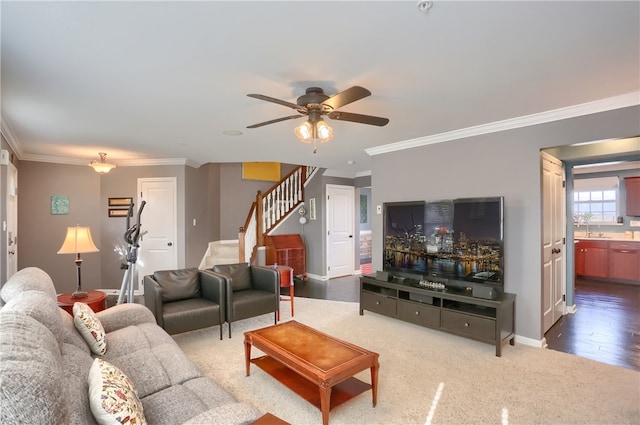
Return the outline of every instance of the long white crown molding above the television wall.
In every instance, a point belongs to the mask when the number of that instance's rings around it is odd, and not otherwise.
[[[576,118],[584,115],[596,114],[599,112],[612,111],[614,109],[626,108],[640,104],[640,92],[632,92],[620,96],[609,97],[593,102],[581,103],[579,105],[567,106],[565,108],[553,109],[551,111],[537,114],[525,115],[522,117],[510,118],[508,120],[495,121],[492,123],[476,125],[462,128],[446,133],[434,134],[431,136],[418,137],[416,139],[402,142],[390,143],[388,145],[375,146],[365,149],[370,156],[381,155],[419,146],[432,145],[435,143],[450,142],[464,139],[466,137],[480,136],[483,134],[497,133],[499,131],[513,130],[516,128],[529,127],[532,125],[545,124],[548,122]]]

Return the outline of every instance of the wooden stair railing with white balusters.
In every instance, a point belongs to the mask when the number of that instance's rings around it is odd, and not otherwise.
[[[299,165],[264,194],[258,191],[244,226],[238,231],[240,262],[252,264],[257,248],[269,234],[304,201],[304,186],[317,167]]]

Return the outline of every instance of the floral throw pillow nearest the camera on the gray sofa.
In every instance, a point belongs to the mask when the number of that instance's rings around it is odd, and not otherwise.
[[[146,425],[133,382],[116,366],[95,359],[89,370],[89,405],[100,425]]]

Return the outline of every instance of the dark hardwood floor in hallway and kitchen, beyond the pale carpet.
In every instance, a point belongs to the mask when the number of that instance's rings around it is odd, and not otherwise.
[[[359,276],[296,280],[295,296],[359,302]],[[640,371],[640,286],[578,279],[575,314],[545,334],[548,348]]]

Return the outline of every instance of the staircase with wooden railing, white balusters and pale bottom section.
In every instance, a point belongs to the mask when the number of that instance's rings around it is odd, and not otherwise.
[[[304,186],[316,171],[317,167],[299,165],[264,194],[258,191],[238,240],[210,242],[199,268],[237,262],[254,264],[265,236],[304,202]]]

